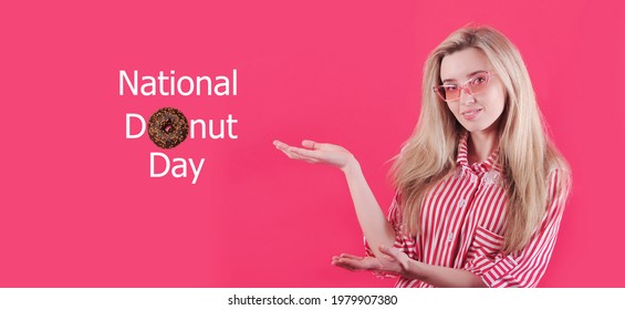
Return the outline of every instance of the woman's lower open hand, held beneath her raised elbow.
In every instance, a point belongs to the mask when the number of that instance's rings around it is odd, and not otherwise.
[[[405,252],[386,246],[379,246],[379,251],[383,254],[381,258],[342,254],[332,258],[332,265],[351,271],[369,270],[408,277],[410,258]]]

